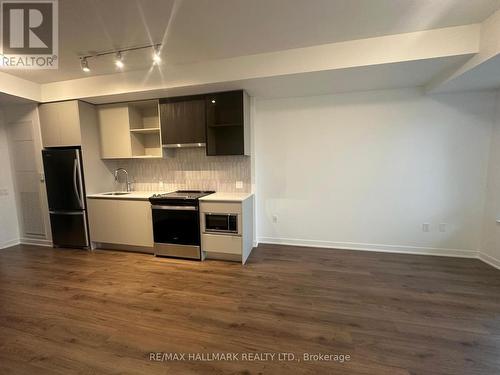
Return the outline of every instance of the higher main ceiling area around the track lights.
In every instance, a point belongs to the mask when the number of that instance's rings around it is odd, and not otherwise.
[[[63,0],[59,8],[59,69],[9,74],[81,78],[79,55],[158,42],[165,63],[182,64],[464,25],[500,0]],[[126,54],[126,69],[147,69],[149,57]],[[112,58],[90,64],[90,74],[116,72]]]

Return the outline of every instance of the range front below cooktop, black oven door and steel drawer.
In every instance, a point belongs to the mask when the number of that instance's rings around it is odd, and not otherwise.
[[[200,217],[197,206],[152,205],[157,255],[200,258]]]

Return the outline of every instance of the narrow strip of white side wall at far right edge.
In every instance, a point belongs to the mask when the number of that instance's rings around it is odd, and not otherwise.
[[[484,206],[481,259],[500,268],[500,91],[497,92],[497,111],[491,137],[488,188]]]

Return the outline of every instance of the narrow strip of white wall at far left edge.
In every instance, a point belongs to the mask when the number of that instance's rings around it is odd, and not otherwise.
[[[0,109],[0,249],[19,242],[19,223],[14,195],[7,131]]]

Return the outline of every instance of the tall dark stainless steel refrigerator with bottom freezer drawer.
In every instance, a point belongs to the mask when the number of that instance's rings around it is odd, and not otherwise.
[[[79,148],[42,151],[52,242],[60,247],[89,247],[85,186]]]

